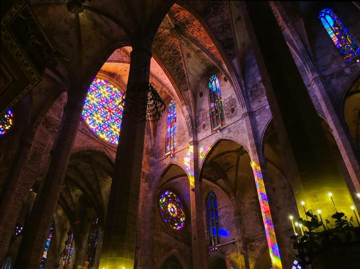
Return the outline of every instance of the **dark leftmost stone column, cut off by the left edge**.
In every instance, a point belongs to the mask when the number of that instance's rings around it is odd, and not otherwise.
[[[11,167],[6,185],[0,193],[0,261],[5,259],[17,217],[31,188],[31,185],[24,184],[21,175],[30,153],[32,137],[21,141],[16,164]]]

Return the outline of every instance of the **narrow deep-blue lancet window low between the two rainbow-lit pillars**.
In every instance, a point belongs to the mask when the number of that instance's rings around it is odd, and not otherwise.
[[[218,213],[218,199],[214,192],[209,192],[206,196],[206,216],[209,230],[210,246],[218,245],[219,242],[219,213]]]

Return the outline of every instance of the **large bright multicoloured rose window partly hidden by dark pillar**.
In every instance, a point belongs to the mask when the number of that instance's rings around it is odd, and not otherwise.
[[[94,79],[82,111],[88,127],[111,144],[118,144],[122,110],[122,92],[106,80]]]

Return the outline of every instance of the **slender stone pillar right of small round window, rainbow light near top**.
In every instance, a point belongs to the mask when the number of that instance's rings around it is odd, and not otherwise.
[[[197,141],[189,145],[189,181],[192,265],[193,268],[207,268],[203,187],[202,178],[200,178],[199,147]]]

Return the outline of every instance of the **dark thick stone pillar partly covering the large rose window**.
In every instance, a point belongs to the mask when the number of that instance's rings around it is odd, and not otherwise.
[[[145,91],[134,85],[149,83],[151,56],[148,48],[133,47],[128,93]],[[130,120],[128,104],[125,97],[99,268],[134,267],[145,122]]]

